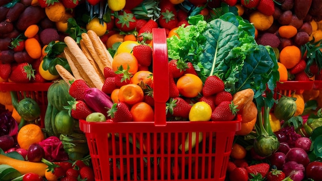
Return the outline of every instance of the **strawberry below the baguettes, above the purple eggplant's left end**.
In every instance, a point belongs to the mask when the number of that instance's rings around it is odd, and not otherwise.
[[[71,83],[68,92],[76,100],[84,100],[84,94],[87,88],[90,88],[90,86],[84,80],[79,79]]]

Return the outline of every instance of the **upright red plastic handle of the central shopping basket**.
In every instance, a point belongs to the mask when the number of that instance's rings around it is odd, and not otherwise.
[[[166,30],[152,29],[154,125],[165,126],[166,102],[169,99],[168,49]]]

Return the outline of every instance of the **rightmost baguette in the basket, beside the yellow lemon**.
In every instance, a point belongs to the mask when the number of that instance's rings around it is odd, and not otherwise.
[[[98,56],[100,57],[100,62],[97,63],[98,65],[101,65],[100,69],[104,72],[104,67],[110,67],[112,68],[112,61],[113,58],[109,51],[107,51],[106,47],[104,46],[101,39],[98,37],[98,35],[93,30],[87,31],[88,37],[90,37],[94,48],[96,52],[98,53]]]

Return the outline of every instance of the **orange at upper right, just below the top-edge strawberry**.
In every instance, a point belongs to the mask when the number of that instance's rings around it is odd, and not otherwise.
[[[273,25],[274,17],[273,15],[267,16],[259,11],[254,11],[249,15],[249,22],[253,23],[257,30],[265,31]]]

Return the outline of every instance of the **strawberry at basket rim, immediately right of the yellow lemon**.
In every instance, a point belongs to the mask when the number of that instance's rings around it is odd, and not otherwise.
[[[232,101],[223,101],[216,108],[214,108],[211,114],[212,121],[231,121],[235,118],[237,110]]]

